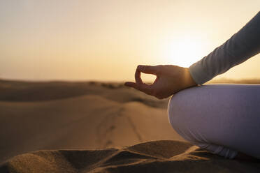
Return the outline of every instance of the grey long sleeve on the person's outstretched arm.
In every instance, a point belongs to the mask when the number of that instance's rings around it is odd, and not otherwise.
[[[259,52],[260,12],[223,45],[189,66],[189,72],[197,84],[203,84]]]

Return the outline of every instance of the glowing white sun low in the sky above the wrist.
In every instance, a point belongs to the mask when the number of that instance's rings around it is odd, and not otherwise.
[[[192,63],[203,58],[203,41],[191,37],[167,40],[163,47],[165,63],[189,67]]]

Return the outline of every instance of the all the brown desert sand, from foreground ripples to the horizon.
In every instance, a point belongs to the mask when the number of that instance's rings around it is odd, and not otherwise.
[[[0,81],[0,172],[259,172],[198,149],[168,99],[116,83]]]

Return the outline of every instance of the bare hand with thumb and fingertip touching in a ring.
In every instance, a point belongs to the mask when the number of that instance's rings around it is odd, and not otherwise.
[[[145,84],[140,77],[141,73],[156,75],[157,78],[153,84]],[[167,98],[182,89],[197,85],[192,79],[188,68],[171,65],[138,66],[136,68],[135,78],[136,83],[126,82],[124,85],[133,87],[134,89],[159,99]]]

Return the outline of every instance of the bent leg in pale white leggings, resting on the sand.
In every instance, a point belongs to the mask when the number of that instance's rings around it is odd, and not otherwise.
[[[185,140],[225,158],[260,158],[260,85],[207,84],[168,104],[171,126]]]

